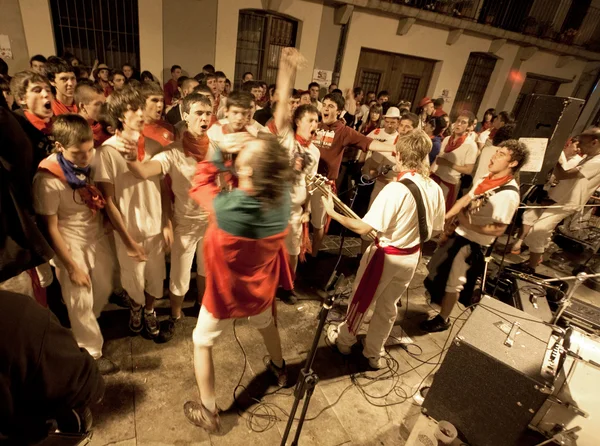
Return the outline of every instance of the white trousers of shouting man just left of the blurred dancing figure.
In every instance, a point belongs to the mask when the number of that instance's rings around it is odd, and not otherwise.
[[[196,273],[204,276],[204,233],[206,221],[185,221],[175,224],[171,248],[171,278],[169,291],[185,296],[190,289],[190,277],[194,255]]]

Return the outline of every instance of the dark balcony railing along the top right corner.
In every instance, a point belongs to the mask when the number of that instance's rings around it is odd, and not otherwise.
[[[591,0],[386,0],[600,51],[600,9]]]

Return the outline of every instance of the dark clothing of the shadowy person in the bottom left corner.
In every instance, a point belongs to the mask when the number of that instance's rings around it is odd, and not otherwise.
[[[0,433],[40,435],[47,420],[102,399],[94,359],[28,296],[0,291]]]

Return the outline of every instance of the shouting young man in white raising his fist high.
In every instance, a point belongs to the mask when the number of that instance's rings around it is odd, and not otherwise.
[[[302,55],[293,48],[282,51],[277,76],[277,107],[270,129],[279,136],[279,141],[288,150],[294,171],[290,188],[291,216],[285,244],[288,250],[290,269],[296,272],[298,257],[302,251],[303,226],[310,221],[310,195],[306,176],[314,176],[319,166],[320,152],[312,143],[319,127],[319,112],[313,105],[301,105],[292,111],[290,105],[291,80]],[[294,290],[280,291],[281,300],[287,304],[297,302]]]

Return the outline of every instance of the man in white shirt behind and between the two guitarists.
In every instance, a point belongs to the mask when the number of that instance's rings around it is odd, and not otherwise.
[[[471,175],[477,161],[477,145],[470,141],[468,128],[475,122],[475,115],[463,110],[454,123],[454,130],[442,142],[440,154],[431,166],[431,178],[444,191],[446,210],[450,210],[456,202],[460,177]]]

